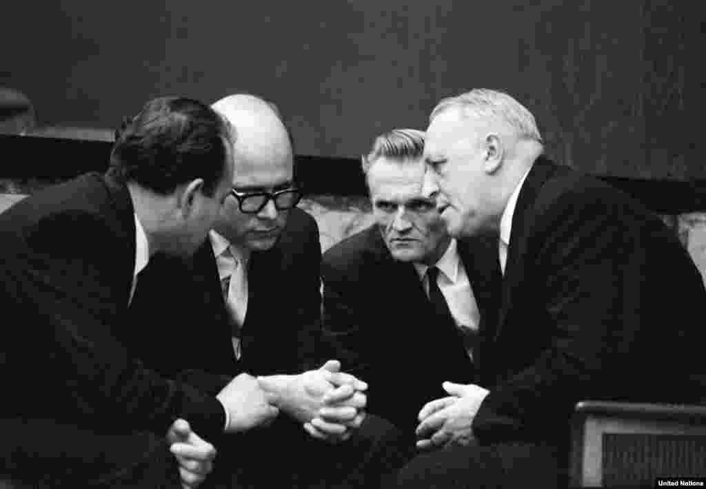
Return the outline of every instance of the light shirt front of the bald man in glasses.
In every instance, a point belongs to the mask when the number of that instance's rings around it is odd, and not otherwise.
[[[248,260],[250,253],[244,248],[234,246],[216,231],[209,232],[211,247],[216,258],[218,278],[222,282],[230,277],[226,308],[234,324],[243,325],[248,310]],[[233,350],[236,358],[240,358],[240,339],[233,336]]]

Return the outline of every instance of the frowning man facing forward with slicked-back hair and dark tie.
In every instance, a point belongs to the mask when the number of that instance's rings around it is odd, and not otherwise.
[[[376,223],[331,247],[321,266],[330,356],[368,382],[368,411],[412,446],[419,410],[448,395],[443,382],[474,381],[477,338],[496,309],[492,255],[481,240],[448,235],[422,188],[423,154],[421,131],[376,138],[362,158]]]

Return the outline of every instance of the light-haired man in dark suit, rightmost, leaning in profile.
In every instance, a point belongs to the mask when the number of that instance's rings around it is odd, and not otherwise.
[[[503,281],[479,380],[420,413],[422,439],[469,446],[417,457],[402,487],[566,484],[576,402],[702,395],[706,291],[659,217],[544,157],[534,117],[503,92],[440,102],[425,159],[450,234],[495,236]]]

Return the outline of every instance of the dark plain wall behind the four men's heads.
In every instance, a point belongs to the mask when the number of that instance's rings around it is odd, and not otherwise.
[[[97,127],[157,95],[255,92],[285,112],[299,154],[337,157],[425,128],[441,97],[496,87],[568,164],[705,178],[687,116],[700,104],[700,3],[532,3],[6,2],[0,86],[25,92],[44,125]]]

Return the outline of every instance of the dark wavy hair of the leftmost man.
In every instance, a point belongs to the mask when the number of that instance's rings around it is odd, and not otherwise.
[[[203,179],[203,193],[213,195],[226,169],[227,144],[234,129],[198,100],[159,97],[140,113],[124,119],[115,133],[111,171],[160,195]]]

